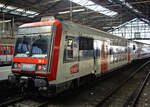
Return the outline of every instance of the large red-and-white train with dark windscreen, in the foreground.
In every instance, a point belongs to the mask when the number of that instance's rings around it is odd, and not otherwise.
[[[49,20],[18,28],[8,80],[49,95],[77,87],[135,59],[149,57],[149,45],[74,24]]]

